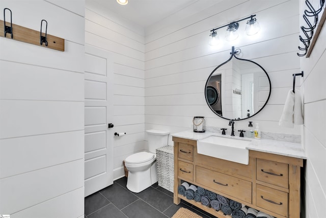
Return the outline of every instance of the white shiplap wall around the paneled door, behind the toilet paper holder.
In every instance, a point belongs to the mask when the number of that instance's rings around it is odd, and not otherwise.
[[[110,52],[114,70],[114,179],[124,176],[122,161],[145,149],[144,31],[95,1],[86,1],[85,44]],[[113,137],[113,136],[112,136]]]

